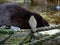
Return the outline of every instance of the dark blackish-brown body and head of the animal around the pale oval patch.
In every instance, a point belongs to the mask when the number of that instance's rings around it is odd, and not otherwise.
[[[17,26],[21,29],[30,29],[29,19],[34,16],[37,21],[37,27],[48,26],[48,22],[39,14],[30,12],[15,3],[5,3],[0,5],[0,26]]]

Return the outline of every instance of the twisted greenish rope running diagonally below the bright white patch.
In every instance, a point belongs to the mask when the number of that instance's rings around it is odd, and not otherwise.
[[[48,36],[48,37],[44,37],[44,38],[41,38],[41,39],[39,39],[39,40],[36,40],[36,41],[34,41],[34,42],[31,42],[31,43],[28,43],[28,44],[26,44],[26,45],[46,45],[46,43],[48,43],[48,41],[51,41],[51,43],[54,43],[54,39],[56,38],[56,37],[58,37],[58,36],[60,36],[60,35],[58,35],[58,34],[60,34],[60,32],[59,33],[56,33],[56,34],[54,34],[54,35],[51,35],[51,36]],[[52,42],[53,41],[53,42]],[[46,43],[45,43],[46,42]]]

